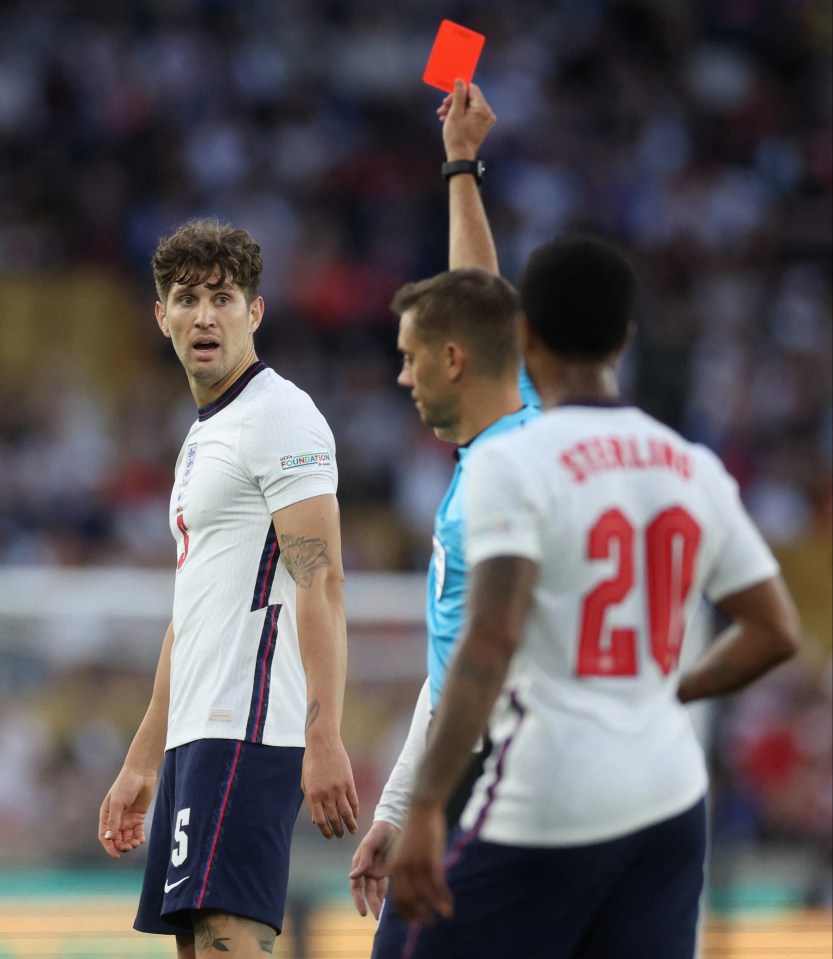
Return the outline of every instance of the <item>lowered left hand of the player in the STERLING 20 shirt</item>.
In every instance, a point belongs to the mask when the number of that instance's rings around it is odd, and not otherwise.
[[[445,814],[440,805],[412,808],[396,843],[391,864],[391,895],[408,922],[431,925],[437,915],[454,913],[454,897],[443,876]]]

